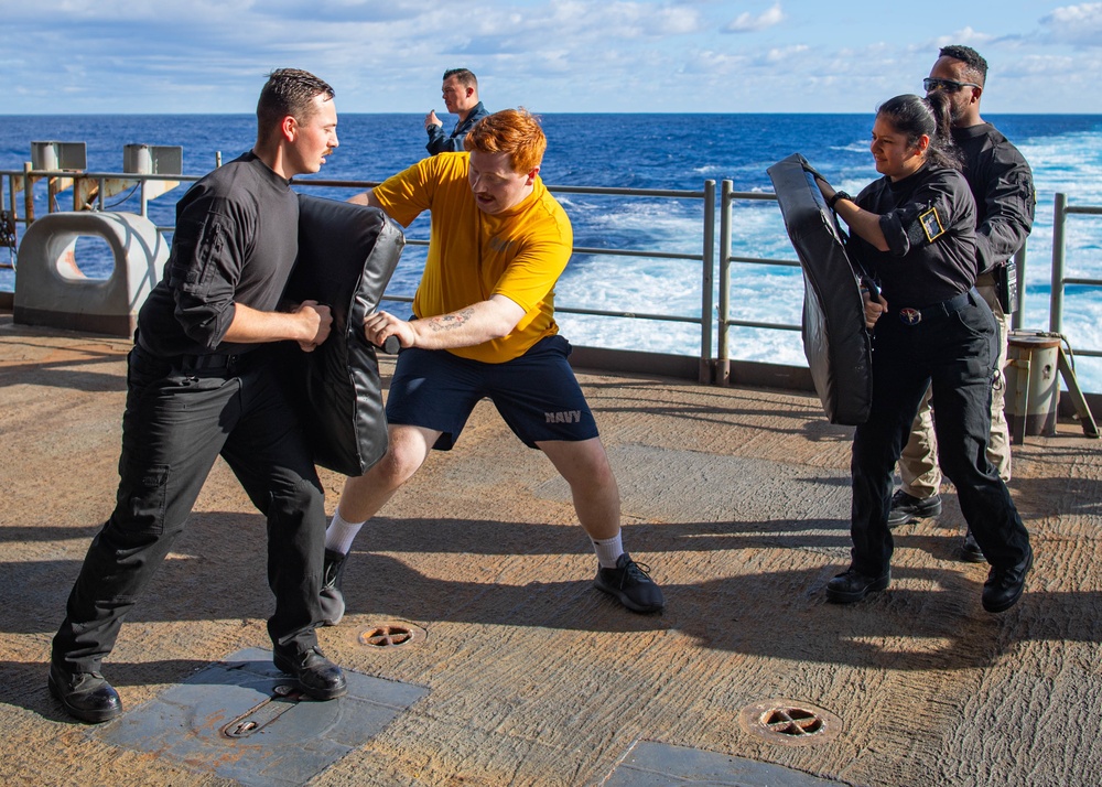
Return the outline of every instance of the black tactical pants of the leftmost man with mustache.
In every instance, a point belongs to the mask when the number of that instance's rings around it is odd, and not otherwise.
[[[273,644],[292,654],[316,645],[324,496],[268,351],[162,359],[136,346],[127,382],[115,513],[69,594],[54,661],[71,672],[99,670],[219,454],[268,518]]]

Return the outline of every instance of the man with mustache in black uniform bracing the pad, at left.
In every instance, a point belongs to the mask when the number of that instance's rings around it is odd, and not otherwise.
[[[129,356],[115,513],[91,542],[53,642],[50,690],[77,719],[102,722],[122,711],[100,662],[219,454],[268,518],[276,666],[315,699],[346,692],[314,633],[323,492],[268,362],[274,342],[309,352],[329,333],[327,306],[276,309],[298,251],[290,179],[321,169],[337,147],[336,123],[333,88],[306,72],[273,72],[257,106],[253,149],[176,206],[172,254],[139,312]]]

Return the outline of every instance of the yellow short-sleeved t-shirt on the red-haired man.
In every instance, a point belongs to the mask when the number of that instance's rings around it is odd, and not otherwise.
[[[374,193],[402,226],[408,227],[424,211],[432,214],[429,257],[413,298],[414,314],[447,314],[491,295],[505,295],[525,310],[508,336],[449,352],[501,364],[559,333],[554,284],[566,268],[574,234],[566,212],[539,177],[519,205],[493,216],[475,204],[466,153],[441,153],[420,161],[376,186]]]

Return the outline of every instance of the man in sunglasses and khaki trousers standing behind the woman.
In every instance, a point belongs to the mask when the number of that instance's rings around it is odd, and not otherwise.
[[[1029,164],[994,126],[980,117],[980,98],[987,77],[987,62],[969,46],[944,46],[925,80],[927,93],[949,95],[953,142],[964,163],[964,177],[976,204],[976,257],[980,276],[975,288],[998,322],[1001,346],[991,397],[991,436],[987,460],[1004,482],[1011,479],[1011,440],[1003,411],[1006,381],[1006,342],[1009,315],[1017,309],[1014,255],[1025,246],[1033,227],[1035,194]],[[933,402],[937,418],[937,402]],[[903,486],[892,498],[888,525],[941,513],[941,470],[931,421],[930,394],[919,408],[910,439],[899,457]],[[980,546],[968,531],[961,557],[984,562]]]

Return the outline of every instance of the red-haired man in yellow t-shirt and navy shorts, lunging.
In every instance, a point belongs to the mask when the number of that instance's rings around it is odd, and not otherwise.
[[[390,446],[345,482],[326,531],[326,622],[344,615],[341,574],[364,521],[433,448],[452,448],[484,397],[570,484],[597,554],[595,586],[633,612],[658,612],[662,591],[624,551],[616,478],[554,321],[554,284],[573,231],[539,177],[547,138],[527,111],[507,109],[478,121],[464,147],[468,152],[425,159],[352,198],[403,226],[430,211],[432,234],[415,319],[378,312],[364,324],[369,342],[396,336],[402,351],[387,400]]]

